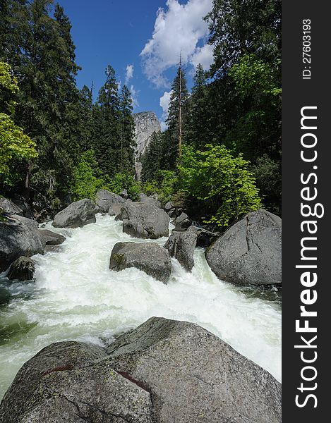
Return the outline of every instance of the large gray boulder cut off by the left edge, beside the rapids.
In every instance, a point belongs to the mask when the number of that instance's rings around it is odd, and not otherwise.
[[[0,221],[0,271],[4,271],[21,256],[44,254],[44,239],[38,223],[16,214]]]

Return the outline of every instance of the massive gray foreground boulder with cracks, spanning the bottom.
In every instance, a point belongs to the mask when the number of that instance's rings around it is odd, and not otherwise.
[[[200,326],[152,317],[107,350],[44,348],[16,375],[0,415],[1,423],[280,423],[281,386]]]

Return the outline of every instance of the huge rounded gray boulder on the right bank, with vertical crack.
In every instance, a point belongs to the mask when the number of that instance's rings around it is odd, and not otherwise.
[[[248,213],[207,250],[223,281],[260,286],[282,283],[282,219],[263,209]]]

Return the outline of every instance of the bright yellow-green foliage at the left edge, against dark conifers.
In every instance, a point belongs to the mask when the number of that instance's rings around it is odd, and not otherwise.
[[[6,180],[11,171],[15,172],[10,167],[13,159],[28,160],[37,157],[35,142],[13,121],[16,104],[8,94],[15,92],[18,92],[18,85],[16,78],[11,75],[11,67],[0,62],[0,175],[5,176]],[[4,113],[4,110],[10,114]]]

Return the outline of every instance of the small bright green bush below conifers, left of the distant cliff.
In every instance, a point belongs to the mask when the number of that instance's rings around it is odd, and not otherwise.
[[[93,150],[82,154],[80,162],[73,169],[73,184],[71,192],[73,200],[90,198],[95,200],[97,191],[104,186],[104,180],[97,177],[97,161]]]

